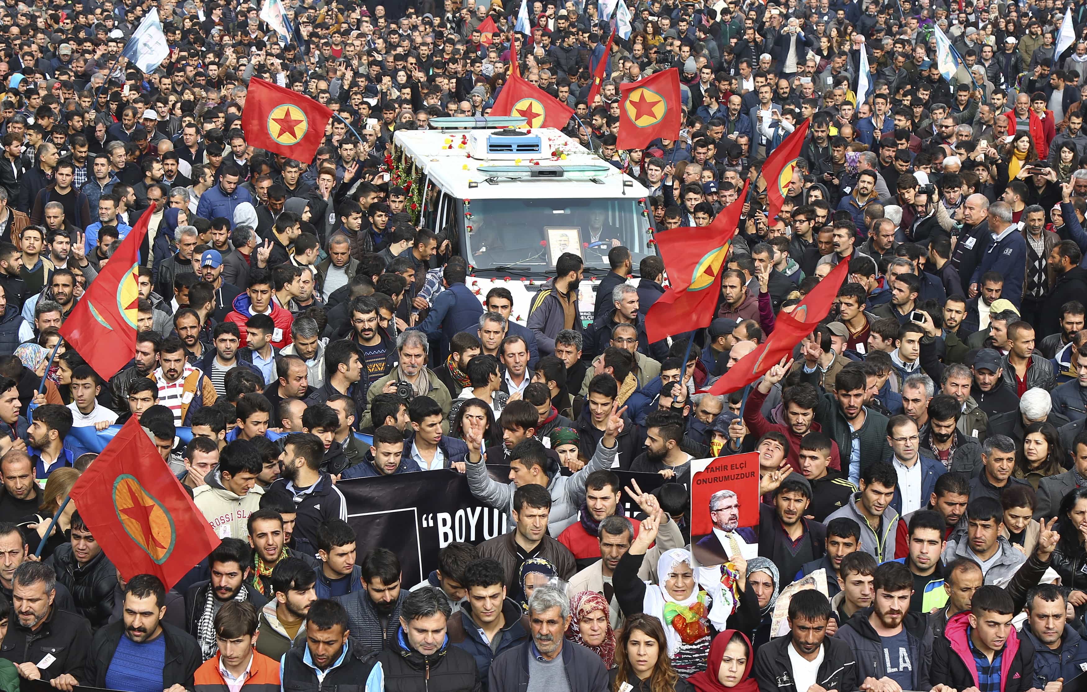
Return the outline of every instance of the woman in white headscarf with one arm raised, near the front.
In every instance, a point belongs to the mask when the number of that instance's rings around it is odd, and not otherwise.
[[[623,615],[652,615],[661,620],[672,666],[688,678],[705,669],[710,643],[725,629],[733,611],[730,591],[721,588],[720,567],[695,567],[689,551],[665,551],[657,561],[657,583],[638,579],[646,551],[657,538],[660,519],[641,523],[638,537],[612,576]]]

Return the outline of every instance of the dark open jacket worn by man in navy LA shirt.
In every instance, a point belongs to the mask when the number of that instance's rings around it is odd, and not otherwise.
[[[853,650],[857,659],[857,679],[875,678],[876,680],[887,676],[887,659],[884,656],[883,642],[876,633],[869,616],[872,615],[872,607],[861,608],[853,613],[841,627],[835,639],[839,639]],[[933,634],[928,628],[928,619],[921,613],[907,613],[902,620],[905,630],[905,640],[910,647],[910,662],[913,664],[913,684],[911,690],[927,690],[929,684],[928,664],[933,652]],[[895,653],[891,652],[891,659]]]

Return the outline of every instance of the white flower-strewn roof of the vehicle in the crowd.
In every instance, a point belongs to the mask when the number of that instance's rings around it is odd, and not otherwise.
[[[536,128],[534,135],[540,135],[551,142],[546,150],[560,148],[566,158],[557,160],[551,156],[544,159],[473,159],[468,155],[464,138],[467,129],[445,130],[401,130],[395,135],[399,147],[416,162],[423,163],[423,171],[432,180],[445,190],[459,198],[486,200],[527,198],[535,199],[630,199],[637,201],[649,193],[640,183],[623,174],[614,166],[598,179],[602,184],[592,183],[585,177],[578,178],[546,178],[546,179],[503,179],[497,185],[484,184],[488,176],[479,173],[479,166],[562,166],[562,165],[601,165],[603,160],[585,149],[576,139],[566,137],[553,127]],[[450,144],[452,149],[450,149]],[[536,163],[538,162],[538,164]],[[633,187],[623,188],[623,180],[633,183]],[[470,188],[468,183],[478,183],[478,187]],[[511,186],[516,186],[512,190]],[[532,186],[532,187],[527,187]]]

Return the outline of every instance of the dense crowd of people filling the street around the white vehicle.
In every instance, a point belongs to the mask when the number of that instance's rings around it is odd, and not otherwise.
[[[147,74],[122,53],[152,3],[0,9],[3,692],[1061,692],[1087,669],[1087,2],[623,2],[295,0],[280,37],[255,4],[159,0]],[[664,264],[602,215],[607,268],[561,254],[524,314],[467,287],[501,273],[395,138],[507,115],[513,63],[648,189],[649,232],[742,206],[708,327],[649,341]],[[673,67],[678,138],[619,150],[621,85]],[[312,161],[247,141],[252,77],[334,111]],[[769,216],[760,172],[804,122]],[[97,373],[60,328],[141,222],[135,354]],[[708,393],[842,262],[791,357]],[[96,457],[73,430],[133,418],[220,539],[168,589],[65,502]],[[760,498],[691,506],[692,462],[749,452]],[[337,485],[438,469],[511,530],[404,583]]]

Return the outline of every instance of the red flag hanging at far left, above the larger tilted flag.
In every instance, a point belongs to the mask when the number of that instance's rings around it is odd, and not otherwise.
[[[140,216],[61,325],[61,336],[103,379],[110,379],[136,355],[139,247],[150,212]]]

